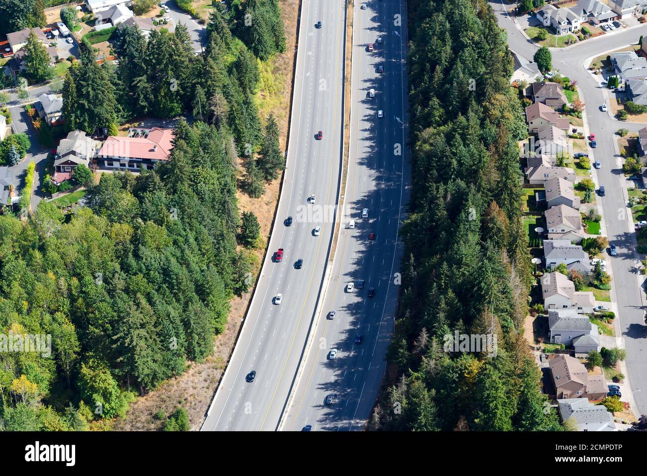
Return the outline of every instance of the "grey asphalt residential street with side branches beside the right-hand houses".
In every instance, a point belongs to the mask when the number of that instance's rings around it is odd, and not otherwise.
[[[525,58],[532,60],[536,45],[527,39],[517,27],[512,17],[507,16],[503,4],[490,2],[496,12],[499,26],[508,33],[510,49]],[[628,378],[637,408],[635,413],[647,413],[647,331],[644,326],[644,307],[647,300],[641,292],[644,277],[639,272],[639,255],[630,211],[626,207],[626,179],[622,173],[622,164],[617,155],[614,133],[620,128],[638,131],[646,124],[620,122],[608,113],[600,111],[600,105],[608,102],[607,90],[600,87],[598,77],[589,74],[586,69],[591,58],[605,52],[620,49],[637,43],[641,35],[647,35],[647,27],[634,27],[618,30],[597,38],[587,39],[571,47],[552,49],[553,68],[571,80],[577,81],[580,89],[580,100],[586,103],[586,122],[589,133],[597,136],[597,148],[589,149],[591,160],[602,164],[597,172],[598,185],[606,188],[605,197],[596,197],[602,208],[606,222],[606,235],[609,243],[615,244],[618,255],[609,257],[613,276],[612,300],[617,301],[619,325],[627,351],[626,367]],[[615,99],[613,99],[615,100]],[[617,138],[617,137],[616,137]],[[603,233],[604,234],[604,233]],[[620,336],[617,336],[620,337]]]

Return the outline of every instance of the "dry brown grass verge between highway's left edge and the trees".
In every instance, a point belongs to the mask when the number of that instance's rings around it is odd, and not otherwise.
[[[292,105],[292,78],[294,74],[294,57],[296,54],[296,20],[301,9],[300,0],[281,0],[281,14],[283,16],[283,27],[285,28],[286,49],[285,53],[278,55],[270,61],[269,68],[274,78],[278,81],[278,100],[273,101],[276,107],[272,109],[260,109],[262,117],[270,112],[274,113],[280,127],[281,147],[287,147],[287,133],[289,127],[289,116]],[[261,91],[261,94],[264,94]],[[276,179],[265,188],[265,194],[259,199],[250,199],[243,193],[238,193],[239,211],[252,210],[258,216],[261,225],[261,236],[266,240],[269,237],[278,199],[280,194],[281,179]],[[265,248],[255,251],[259,262],[262,263]],[[257,270],[258,276],[258,270]],[[155,420],[153,415],[159,410],[169,415],[176,406],[183,406],[189,416],[193,430],[199,429],[204,421],[204,416],[215,389],[225,369],[234,343],[240,330],[242,319],[247,312],[252,293],[243,297],[235,297],[230,305],[229,320],[223,334],[217,336],[214,345],[214,354],[201,363],[189,363],[188,370],[177,378],[164,382],[159,389],[152,391],[146,396],[138,398],[131,407],[125,418],[116,420],[114,429],[151,431],[159,430],[162,427],[160,420]]]

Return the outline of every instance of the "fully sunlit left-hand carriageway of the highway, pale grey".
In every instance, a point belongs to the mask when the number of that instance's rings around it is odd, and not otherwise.
[[[322,28],[314,25],[322,22]],[[203,431],[274,431],[305,348],[333,238],[340,191],[345,2],[302,5],[287,167],[269,252]],[[316,140],[323,131],[322,140]],[[316,195],[314,205],[307,204]],[[283,220],[292,216],[292,226]],[[316,226],[321,227],[314,236]],[[274,252],[283,248],[281,263]],[[303,267],[294,262],[303,259]],[[280,305],[273,303],[281,293]],[[256,371],[254,382],[245,376]]]

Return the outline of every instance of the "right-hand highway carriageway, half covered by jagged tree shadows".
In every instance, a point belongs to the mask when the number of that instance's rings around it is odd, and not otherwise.
[[[393,334],[402,243],[399,226],[410,193],[406,5],[355,3],[351,80],[351,136],[344,228],[334,257],[311,351],[281,422],[281,430],[361,430],[380,389],[384,355]],[[400,25],[394,25],[400,15]],[[381,43],[377,38],[382,39]],[[370,52],[369,43],[374,50]],[[384,73],[378,67],[384,67]],[[375,97],[369,91],[375,89]],[[378,117],[378,111],[383,116]],[[368,217],[362,218],[362,210]],[[355,228],[349,229],[350,220]],[[369,239],[375,233],[375,240]],[[358,281],[364,279],[364,287]],[[347,283],[352,292],[346,292]],[[375,296],[369,297],[369,288]],[[328,319],[335,310],[334,319]],[[360,343],[355,343],[361,335]],[[336,358],[329,358],[337,349]],[[331,405],[326,396],[336,395]]]

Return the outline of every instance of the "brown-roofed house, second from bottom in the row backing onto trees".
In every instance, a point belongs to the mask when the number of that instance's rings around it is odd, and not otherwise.
[[[588,398],[602,400],[607,394],[604,375],[589,375],[584,364],[565,354],[553,356],[548,361],[553,374],[555,393],[558,399]]]

